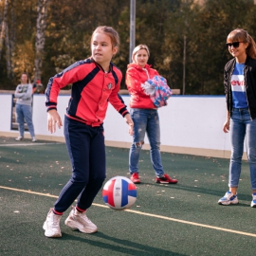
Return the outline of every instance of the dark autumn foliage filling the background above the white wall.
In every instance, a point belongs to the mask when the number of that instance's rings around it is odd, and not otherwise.
[[[236,27],[256,39],[253,0],[137,0],[136,45],[149,46],[152,64],[172,88],[182,91],[186,38],[186,94],[220,95],[223,68],[231,56],[226,38]],[[9,44],[14,77],[7,78],[6,48],[0,61],[0,89],[14,89],[20,74],[34,72],[37,0],[9,1]],[[3,13],[0,2],[0,22]],[[107,25],[119,31],[120,48],[113,63],[125,75],[129,63],[130,1],[54,0],[47,9],[42,82],[69,64],[91,55],[94,29]],[[1,28],[0,28],[1,29]],[[122,88],[125,88],[124,80]]]

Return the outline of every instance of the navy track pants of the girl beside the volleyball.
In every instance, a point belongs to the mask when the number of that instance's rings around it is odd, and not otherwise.
[[[103,126],[91,127],[65,116],[64,137],[72,175],[55,202],[54,209],[64,212],[78,197],[78,207],[86,210],[92,205],[106,177]]]

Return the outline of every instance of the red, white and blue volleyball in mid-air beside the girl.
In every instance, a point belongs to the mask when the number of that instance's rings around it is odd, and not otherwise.
[[[102,190],[104,203],[113,210],[131,208],[137,199],[136,185],[127,177],[115,176],[109,179]]]

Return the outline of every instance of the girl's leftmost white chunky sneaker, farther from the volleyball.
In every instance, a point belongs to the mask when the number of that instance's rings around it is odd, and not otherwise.
[[[62,237],[60,229],[60,220],[62,215],[54,214],[51,208],[47,214],[43,229],[45,229],[46,237]]]

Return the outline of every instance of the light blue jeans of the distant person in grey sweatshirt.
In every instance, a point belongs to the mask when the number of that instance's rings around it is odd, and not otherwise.
[[[28,131],[31,137],[35,137],[34,125],[32,122],[32,107],[29,105],[16,104],[17,121],[19,124],[20,136],[24,137],[24,119],[27,122]]]

